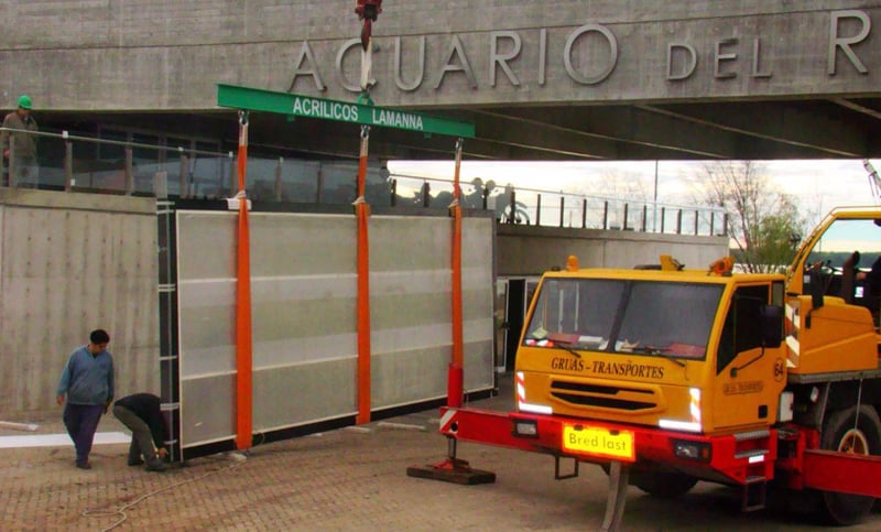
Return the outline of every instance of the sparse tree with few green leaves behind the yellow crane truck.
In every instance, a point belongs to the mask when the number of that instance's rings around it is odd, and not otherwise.
[[[728,213],[733,256],[748,272],[775,272],[790,263],[806,220],[792,196],[769,183],[753,161],[704,164],[695,180],[704,200]]]

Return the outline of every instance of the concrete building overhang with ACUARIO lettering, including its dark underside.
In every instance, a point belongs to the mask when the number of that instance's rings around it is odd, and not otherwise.
[[[350,0],[0,1],[0,104],[46,127],[224,151],[219,83],[354,101]],[[881,4],[856,0],[387,2],[377,105],[472,120],[466,156],[881,155]],[[346,124],[252,118],[255,149],[357,154]],[[447,139],[379,129],[378,159],[445,159]]]

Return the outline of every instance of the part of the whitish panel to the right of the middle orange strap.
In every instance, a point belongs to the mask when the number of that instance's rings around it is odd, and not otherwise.
[[[493,386],[492,219],[463,220],[466,391]],[[372,406],[446,395],[453,352],[453,220],[370,220]]]

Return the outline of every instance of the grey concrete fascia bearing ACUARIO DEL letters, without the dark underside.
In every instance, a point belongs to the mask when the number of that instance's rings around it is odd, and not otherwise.
[[[0,0],[0,106],[26,91],[40,109],[211,109],[216,83],[349,100],[354,3]],[[833,13],[847,10],[869,22],[850,13],[837,30],[868,31],[857,61],[829,39]],[[874,94],[879,20],[881,7],[862,0],[392,2],[374,25],[372,96],[431,108]],[[608,33],[579,32],[586,24]],[[493,46],[510,59],[493,61]]]

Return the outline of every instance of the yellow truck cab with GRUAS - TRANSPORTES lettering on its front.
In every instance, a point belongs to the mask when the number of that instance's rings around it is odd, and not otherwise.
[[[781,274],[550,272],[518,351],[516,408],[705,435],[768,427],[785,387],[783,303]]]

